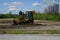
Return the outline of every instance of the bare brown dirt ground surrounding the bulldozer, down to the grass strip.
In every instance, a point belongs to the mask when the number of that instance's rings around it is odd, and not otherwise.
[[[0,29],[60,30],[60,21],[34,20],[33,25],[12,25],[13,19],[0,19]]]

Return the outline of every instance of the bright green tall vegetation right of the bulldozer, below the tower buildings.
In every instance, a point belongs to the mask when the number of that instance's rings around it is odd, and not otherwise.
[[[34,14],[34,19],[35,20],[53,20],[53,21],[60,21],[60,14],[40,14],[40,13],[35,13]]]

